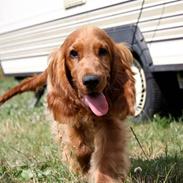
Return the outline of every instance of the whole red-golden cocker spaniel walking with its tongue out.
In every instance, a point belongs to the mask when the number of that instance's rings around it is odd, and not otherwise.
[[[134,113],[132,54],[105,31],[82,27],[51,54],[48,68],[0,97],[47,83],[62,160],[91,183],[121,183],[129,169],[125,118]]]

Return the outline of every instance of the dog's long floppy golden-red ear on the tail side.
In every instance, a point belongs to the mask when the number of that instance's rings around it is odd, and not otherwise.
[[[72,78],[63,53],[63,48],[52,53],[48,66],[47,102],[56,121],[63,121],[63,116],[72,116],[76,112],[77,97],[71,86]]]

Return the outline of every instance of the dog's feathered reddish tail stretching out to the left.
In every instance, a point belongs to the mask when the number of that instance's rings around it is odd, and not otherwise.
[[[36,76],[23,80],[20,84],[8,90],[4,95],[0,96],[0,105],[5,103],[8,99],[17,94],[21,94],[26,91],[36,91],[38,88],[46,85],[47,69]]]

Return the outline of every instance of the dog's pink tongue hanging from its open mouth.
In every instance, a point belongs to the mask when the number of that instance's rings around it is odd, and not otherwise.
[[[84,102],[96,116],[103,116],[108,112],[108,103],[103,93],[97,96],[84,96]]]

